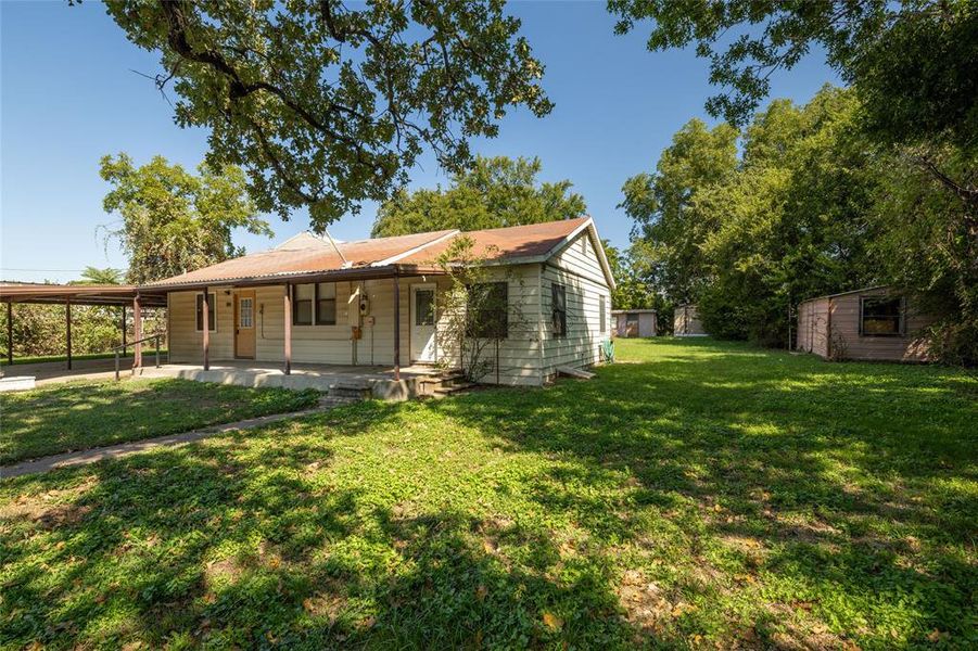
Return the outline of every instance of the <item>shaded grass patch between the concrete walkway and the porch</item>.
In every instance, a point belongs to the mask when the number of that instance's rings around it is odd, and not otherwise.
[[[314,391],[191,380],[68,382],[0,394],[0,464],[295,411]]]

